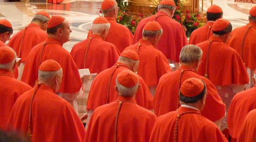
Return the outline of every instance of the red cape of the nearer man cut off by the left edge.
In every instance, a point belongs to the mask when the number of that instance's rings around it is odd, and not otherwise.
[[[31,87],[15,78],[11,71],[0,69],[0,129],[4,129],[17,98]]]

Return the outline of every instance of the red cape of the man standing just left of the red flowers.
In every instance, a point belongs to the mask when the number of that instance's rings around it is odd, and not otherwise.
[[[110,23],[110,28],[108,36],[105,41],[113,43],[117,49],[122,53],[123,50],[132,45],[133,34],[132,32],[124,25],[116,23],[116,19],[113,17],[106,17]],[[89,31],[88,37],[90,37],[92,31]]]

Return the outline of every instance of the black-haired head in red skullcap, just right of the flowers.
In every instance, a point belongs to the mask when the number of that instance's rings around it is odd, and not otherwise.
[[[206,18],[208,21],[216,21],[217,19],[222,18],[223,11],[218,5],[210,6],[206,11]]]

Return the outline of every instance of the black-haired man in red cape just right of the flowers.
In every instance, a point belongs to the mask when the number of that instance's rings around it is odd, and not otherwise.
[[[222,18],[223,11],[218,5],[210,6],[206,11],[206,19],[207,23],[194,30],[189,37],[189,44],[198,44],[203,41],[207,41],[210,37],[212,37],[212,25],[214,21]]]

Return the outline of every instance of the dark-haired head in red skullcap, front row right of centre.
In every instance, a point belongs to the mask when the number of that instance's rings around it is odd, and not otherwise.
[[[180,86],[180,101],[184,103],[196,103],[206,94],[206,86],[203,80],[188,78]]]

